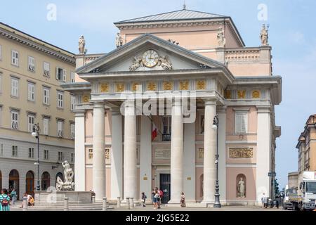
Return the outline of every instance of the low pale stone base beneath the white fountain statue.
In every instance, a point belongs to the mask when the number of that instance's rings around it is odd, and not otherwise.
[[[60,205],[65,197],[69,203],[91,203],[90,191],[34,191],[34,196],[36,205]]]

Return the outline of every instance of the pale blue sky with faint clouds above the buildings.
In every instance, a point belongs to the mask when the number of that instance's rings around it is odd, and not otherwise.
[[[51,20],[51,4],[56,8]],[[298,169],[298,136],[309,115],[316,113],[316,1],[314,0],[186,0],[187,9],[229,15],[246,46],[259,46],[263,23],[269,24],[273,75],[282,76],[282,103],[275,107],[277,139],[276,172],[279,186],[287,173]],[[259,20],[259,4],[267,6],[267,20]],[[27,34],[78,53],[84,34],[88,53],[106,53],[115,48],[114,22],[145,15],[176,11],[183,0],[73,1],[28,0],[0,4],[0,21]]]

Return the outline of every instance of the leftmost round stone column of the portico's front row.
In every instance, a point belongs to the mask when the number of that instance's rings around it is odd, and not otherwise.
[[[105,109],[104,103],[93,105],[93,191],[96,200],[105,197]]]

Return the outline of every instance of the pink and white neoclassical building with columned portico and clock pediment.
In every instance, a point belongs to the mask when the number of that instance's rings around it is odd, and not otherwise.
[[[76,96],[76,191],[138,200],[157,186],[164,203],[183,191],[212,204],[218,115],[221,202],[272,196],[282,79],[265,28],[246,47],[232,18],[186,8],[114,24],[117,49],[81,51],[76,82],[62,84]]]

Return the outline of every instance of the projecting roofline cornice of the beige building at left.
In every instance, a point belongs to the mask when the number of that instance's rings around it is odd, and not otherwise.
[[[55,58],[58,58],[59,60],[63,60],[66,63],[70,63],[72,65],[74,65],[76,63],[74,56],[66,55],[64,53],[62,53],[61,50],[55,51],[53,50],[49,44],[44,44],[40,43],[40,41],[35,42],[32,41],[31,39],[27,39],[25,37],[20,36],[19,34],[16,34],[15,32],[9,32],[7,30],[4,30],[2,27],[0,27],[0,36],[6,38],[6,39],[11,39],[12,41],[16,41],[19,44],[23,44],[25,46],[29,46],[29,48],[32,48],[36,51],[40,51],[41,53],[45,53],[48,56],[53,56]],[[58,49],[56,47],[56,49]]]

